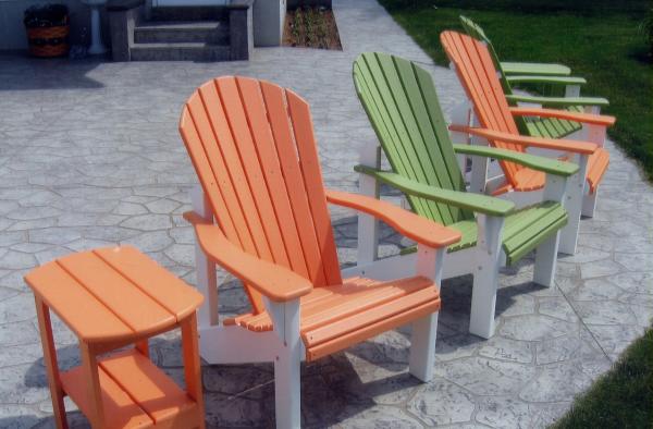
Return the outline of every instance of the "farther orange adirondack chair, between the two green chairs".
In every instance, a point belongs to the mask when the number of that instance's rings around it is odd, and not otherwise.
[[[506,101],[497,72],[488,47],[481,41],[456,32],[443,32],[440,40],[452,61],[467,97],[473,105],[475,122],[453,124],[449,130],[472,138],[475,144],[490,142],[495,147],[523,152],[529,147],[563,152],[580,167],[577,177],[570,182],[569,200],[565,205],[569,212],[569,223],[560,232],[559,252],[576,253],[578,228],[581,212],[592,216],[596,203],[599,184],[607,170],[609,154],[603,148],[606,127],[615,123],[613,117],[577,113],[568,110],[553,110],[531,107],[510,107]],[[588,124],[586,140],[550,139],[519,135],[513,117],[558,118]],[[454,136],[456,137],[456,136]],[[480,137],[480,138],[479,138]],[[540,200],[545,183],[545,174],[509,161],[500,161],[504,176],[498,181],[488,181],[486,161],[472,163],[471,191],[492,195],[505,194],[518,206]],[[587,180],[587,186],[586,186]],[[529,195],[530,194],[530,195]]]

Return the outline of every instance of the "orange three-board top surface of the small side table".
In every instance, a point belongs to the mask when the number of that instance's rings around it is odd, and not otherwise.
[[[204,299],[132,246],[67,255],[34,269],[25,281],[87,342],[124,341],[164,330]]]

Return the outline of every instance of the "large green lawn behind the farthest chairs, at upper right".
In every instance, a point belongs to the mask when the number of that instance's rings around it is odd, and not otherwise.
[[[611,137],[653,179],[653,65],[638,25],[648,1],[380,0],[438,64],[444,29],[480,24],[503,61],[559,62],[588,84],[581,95],[611,101],[617,117]],[[547,4],[544,7],[542,3]],[[601,8],[596,4],[601,3]],[[646,5],[648,4],[648,5]],[[572,8],[572,10],[570,10]]]

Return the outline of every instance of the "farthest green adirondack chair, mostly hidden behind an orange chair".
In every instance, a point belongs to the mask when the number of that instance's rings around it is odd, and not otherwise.
[[[502,62],[480,25],[467,16],[460,15],[460,24],[465,32],[475,39],[481,40],[492,57],[494,66],[498,72],[501,86],[510,106],[518,102],[540,105],[566,109],[570,112],[589,112],[599,114],[602,107],[609,102],[601,97],[580,97],[580,86],[587,81],[583,77],[569,76],[570,70],[566,65],[546,63]],[[546,87],[565,88],[565,97],[540,97],[515,94],[514,85],[542,85]],[[459,113],[460,114],[460,113]],[[461,114],[467,114],[464,111]],[[457,117],[456,120],[459,118]],[[582,124],[558,118],[519,117],[515,119],[517,127],[522,135],[544,138],[567,137],[582,128]]]

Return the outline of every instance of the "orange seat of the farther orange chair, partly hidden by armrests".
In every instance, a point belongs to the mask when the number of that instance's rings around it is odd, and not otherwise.
[[[590,186],[590,194],[594,194],[596,192],[596,188],[599,187],[599,184],[601,183],[601,180],[607,170],[608,163],[609,152],[602,147],[596,149],[594,154],[590,155],[590,159],[588,160],[588,172],[586,174],[586,180]],[[492,195],[502,195],[509,191],[537,191],[543,188],[544,184],[546,183],[546,174],[528,168],[517,171],[515,179],[517,180],[517,186],[504,183],[494,189]]]

